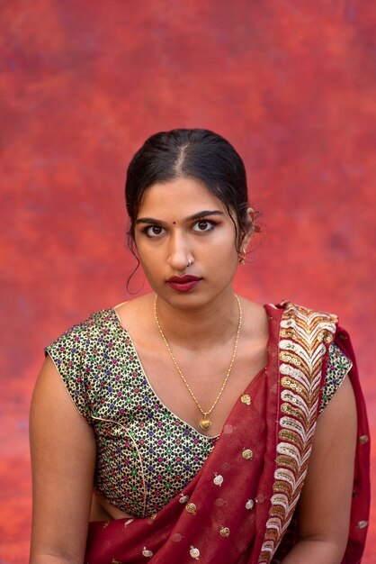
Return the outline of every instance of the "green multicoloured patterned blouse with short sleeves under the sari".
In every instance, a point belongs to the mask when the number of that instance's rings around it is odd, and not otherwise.
[[[47,353],[93,426],[100,496],[136,517],[157,513],[197,474],[218,437],[201,434],[160,401],[114,309],[74,325]],[[351,366],[332,344],[320,412]]]

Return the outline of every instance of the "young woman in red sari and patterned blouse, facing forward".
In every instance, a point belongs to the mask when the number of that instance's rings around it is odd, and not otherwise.
[[[31,564],[359,562],[369,441],[353,350],[335,315],[234,294],[257,229],[236,150],[157,133],[126,201],[153,292],[47,348]]]

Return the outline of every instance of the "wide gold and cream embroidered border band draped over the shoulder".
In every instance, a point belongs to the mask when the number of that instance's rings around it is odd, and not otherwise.
[[[322,360],[326,344],[333,341],[337,322],[331,314],[291,303],[284,306],[279,342],[282,405],[278,415],[278,455],[272,504],[258,559],[267,564],[290,523],[307,473],[318,416]]]

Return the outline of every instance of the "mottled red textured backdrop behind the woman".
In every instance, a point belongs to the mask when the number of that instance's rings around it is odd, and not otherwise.
[[[153,132],[206,127],[237,147],[264,227],[237,290],[339,314],[376,427],[374,11],[366,0],[0,1],[0,564],[27,561],[43,346],[129,297],[122,186]],[[372,523],[363,562],[375,557]]]

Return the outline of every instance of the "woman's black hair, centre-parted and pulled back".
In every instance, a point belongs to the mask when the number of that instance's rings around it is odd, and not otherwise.
[[[246,168],[234,147],[217,133],[205,129],[158,132],[145,141],[130,161],[125,199],[130,216],[128,243],[134,252],[135,224],[142,196],[148,186],[175,178],[200,180],[225,206],[236,229],[236,248],[252,226],[246,213]],[[237,222],[234,221],[235,214]]]

